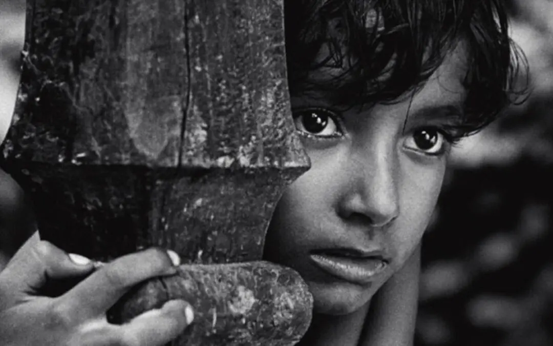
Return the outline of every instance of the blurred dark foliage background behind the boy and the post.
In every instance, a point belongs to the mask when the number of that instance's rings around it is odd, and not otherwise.
[[[553,2],[507,2],[533,92],[453,152],[425,235],[416,346],[553,345]],[[0,0],[0,119],[13,112],[24,7]],[[0,172],[4,248],[31,231],[24,204]]]

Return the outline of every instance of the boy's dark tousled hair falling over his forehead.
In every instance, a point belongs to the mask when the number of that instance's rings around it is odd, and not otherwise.
[[[315,87],[332,90],[341,104],[398,102],[460,42],[468,55],[463,134],[527,94],[528,64],[509,38],[502,0],[288,0],[285,29],[292,94]],[[309,81],[321,66],[347,69]]]

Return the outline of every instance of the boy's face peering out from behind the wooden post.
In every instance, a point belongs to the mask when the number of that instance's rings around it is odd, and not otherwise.
[[[418,94],[394,105],[345,108],[328,92],[292,95],[311,169],[277,205],[265,257],[300,272],[317,313],[362,307],[419,244],[450,149],[442,128],[458,123],[465,97],[464,60],[459,45]],[[321,68],[310,78],[336,73]]]

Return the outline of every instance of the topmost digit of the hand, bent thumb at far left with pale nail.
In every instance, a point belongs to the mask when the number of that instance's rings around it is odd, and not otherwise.
[[[93,269],[92,261],[86,257],[67,255],[59,247],[40,240],[36,232],[0,272],[0,292],[32,294],[49,280],[83,276]]]

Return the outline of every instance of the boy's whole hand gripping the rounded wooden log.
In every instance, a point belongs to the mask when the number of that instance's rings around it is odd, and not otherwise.
[[[121,326],[108,323],[106,311],[137,283],[175,274],[176,257],[149,249],[95,270],[86,257],[67,255],[36,233],[0,272],[0,340],[13,346],[166,344],[194,318],[185,301],[166,302]],[[59,296],[45,294],[50,283],[64,280],[82,281]]]

